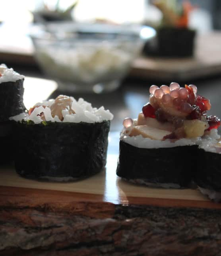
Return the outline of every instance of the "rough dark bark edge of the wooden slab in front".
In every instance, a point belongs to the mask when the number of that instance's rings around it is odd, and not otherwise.
[[[117,205],[100,197],[1,186],[0,255],[221,255],[218,204]]]

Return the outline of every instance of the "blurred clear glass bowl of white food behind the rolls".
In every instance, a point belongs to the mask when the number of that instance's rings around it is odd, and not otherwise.
[[[37,63],[47,76],[58,82],[58,88],[101,93],[118,88],[128,73],[143,47],[142,29],[141,26],[58,23],[48,25],[41,33],[32,33],[31,39]]]

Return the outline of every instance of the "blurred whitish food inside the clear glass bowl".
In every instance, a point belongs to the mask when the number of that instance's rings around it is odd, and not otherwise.
[[[123,45],[122,45],[123,48]],[[72,48],[45,46],[37,59],[49,74],[79,83],[96,83],[124,76],[133,53],[104,41],[74,44]]]

